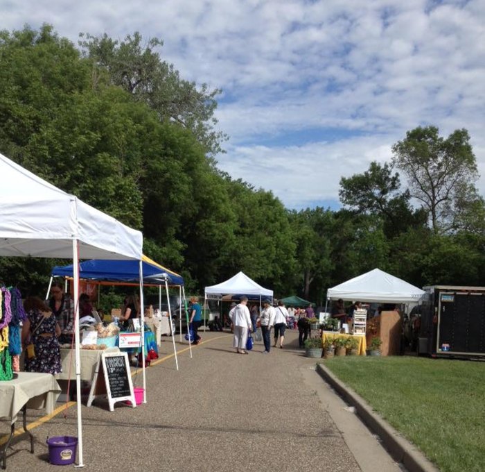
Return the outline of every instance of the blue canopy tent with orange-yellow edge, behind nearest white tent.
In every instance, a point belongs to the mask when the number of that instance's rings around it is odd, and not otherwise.
[[[80,262],[79,278],[83,280],[92,280],[96,283],[139,283],[139,261],[136,260],[107,260],[92,259]],[[170,271],[166,267],[151,260],[145,255],[141,256],[143,267],[143,283],[159,285],[161,299],[161,285],[166,287],[168,301],[168,314],[170,317],[170,326],[172,324],[172,312],[170,310],[170,298],[168,296],[168,287],[184,287],[184,278],[178,273]],[[73,276],[73,266],[55,266],[51,272],[51,283],[53,277],[71,278]],[[51,289],[49,283],[48,292]],[[143,284],[142,284],[143,285]],[[47,292],[47,293],[48,293]],[[175,353],[175,364],[177,371],[179,363],[177,360],[177,349],[175,348],[175,332],[173,332],[173,351]]]

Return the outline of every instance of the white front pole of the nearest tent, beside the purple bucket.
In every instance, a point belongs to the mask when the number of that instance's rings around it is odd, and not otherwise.
[[[74,351],[76,357],[76,405],[78,412],[78,466],[82,463],[82,413],[81,413],[81,354],[79,335],[79,258],[78,239],[73,239],[73,276],[74,276]]]

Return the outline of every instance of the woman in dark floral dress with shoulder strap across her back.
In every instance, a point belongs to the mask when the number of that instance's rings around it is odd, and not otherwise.
[[[60,326],[51,309],[36,296],[26,298],[24,309],[27,319],[22,328],[22,345],[34,344],[35,357],[29,359],[26,353],[27,372],[62,372],[58,337]]]

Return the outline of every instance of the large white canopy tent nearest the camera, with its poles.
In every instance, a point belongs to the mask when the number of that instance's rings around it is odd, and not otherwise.
[[[54,187],[2,154],[0,176],[0,256],[65,258],[71,259],[76,268],[79,259],[135,259],[140,261],[140,280],[143,280],[143,236],[139,231],[128,228],[76,196]],[[77,301],[78,270],[74,271],[73,276],[74,299]],[[141,285],[140,302],[143,307]],[[78,303],[75,305],[75,323],[78,326],[79,307]],[[78,462],[79,466],[83,466],[79,330],[76,329],[75,333]],[[141,337],[143,339],[143,332]]]

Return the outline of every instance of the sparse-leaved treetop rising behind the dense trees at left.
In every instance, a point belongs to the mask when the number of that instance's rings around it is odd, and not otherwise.
[[[206,153],[220,152],[227,135],[216,130],[214,116],[219,89],[182,79],[172,64],[156,51],[163,41],[150,38],[143,44],[140,33],[113,40],[108,35],[81,34],[80,46],[85,55],[104,69],[114,85],[148,103],[161,121],[174,121],[193,132]]]

